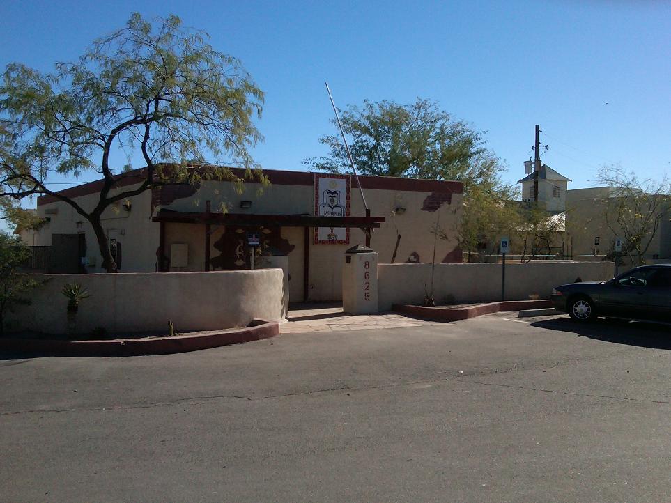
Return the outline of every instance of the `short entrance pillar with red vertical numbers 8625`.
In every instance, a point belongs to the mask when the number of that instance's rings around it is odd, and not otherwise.
[[[362,245],[345,252],[343,311],[378,312],[378,254]]]

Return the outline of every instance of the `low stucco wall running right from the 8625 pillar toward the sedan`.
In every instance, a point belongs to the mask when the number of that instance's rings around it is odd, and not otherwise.
[[[502,265],[493,263],[436,264],[435,302],[493,302],[501,300]],[[506,263],[506,299],[547,299],[554,286],[610,279],[612,262]],[[380,311],[392,304],[422,304],[431,287],[431,264],[378,264]]]

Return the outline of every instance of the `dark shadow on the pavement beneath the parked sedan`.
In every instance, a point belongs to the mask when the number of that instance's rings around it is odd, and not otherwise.
[[[531,325],[560,332],[572,332],[578,334],[578,337],[589,337],[589,339],[615,344],[671,349],[671,327],[656,323],[599,318],[593,323],[583,324],[566,317],[534,321]]]

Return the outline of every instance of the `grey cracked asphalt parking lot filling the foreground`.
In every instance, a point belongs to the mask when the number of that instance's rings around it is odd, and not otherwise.
[[[0,355],[3,501],[669,501],[671,329],[499,313]]]

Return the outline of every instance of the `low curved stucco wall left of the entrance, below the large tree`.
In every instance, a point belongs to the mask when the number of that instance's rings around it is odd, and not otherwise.
[[[8,316],[8,330],[67,332],[63,285],[79,283],[82,300],[75,332],[104,327],[110,334],[176,332],[245,327],[254,319],[282,321],[288,297],[281,269],[129,274],[31,274],[45,281],[31,291],[31,304]]]

